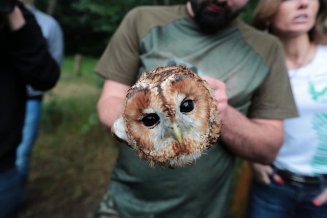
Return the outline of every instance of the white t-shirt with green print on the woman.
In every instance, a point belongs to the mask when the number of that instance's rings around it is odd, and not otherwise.
[[[275,165],[293,173],[327,174],[327,46],[306,66],[289,70],[299,117],[285,119]]]

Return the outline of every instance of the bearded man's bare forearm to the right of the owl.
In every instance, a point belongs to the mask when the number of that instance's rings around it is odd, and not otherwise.
[[[283,143],[282,120],[248,119],[228,106],[221,140],[236,155],[254,162],[271,163]]]

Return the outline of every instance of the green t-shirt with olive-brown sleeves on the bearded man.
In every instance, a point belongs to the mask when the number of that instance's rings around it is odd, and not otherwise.
[[[181,5],[131,10],[96,72],[132,85],[142,71],[168,65],[185,65],[223,81],[228,104],[248,117],[297,116],[277,39],[240,20],[205,34]],[[125,144],[119,148],[110,191],[121,218],[217,218],[226,213],[235,157],[221,141],[193,165],[177,169],[151,168]]]

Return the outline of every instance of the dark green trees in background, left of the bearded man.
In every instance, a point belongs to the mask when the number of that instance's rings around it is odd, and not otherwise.
[[[65,53],[81,53],[99,57],[125,14],[139,5],[164,4],[154,0],[65,0],[58,1],[54,17],[59,21],[65,38]],[[171,0],[170,4],[185,3]],[[45,1],[36,7],[46,11]]]

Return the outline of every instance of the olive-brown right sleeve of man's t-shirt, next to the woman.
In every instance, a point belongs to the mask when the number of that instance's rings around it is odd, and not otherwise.
[[[296,117],[297,109],[280,43],[272,45],[269,56],[271,56],[268,59],[269,74],[255,91],[248,116],[265,119]]]

